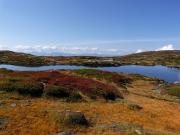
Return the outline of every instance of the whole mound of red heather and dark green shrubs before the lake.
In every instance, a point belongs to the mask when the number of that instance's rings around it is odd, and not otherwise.
[[[22,95],[67,98],[70,101],[83,97],[115,100],[123,98],[116,87],[58,71],[12,72],[0,77],[0,90],[18,92]]]

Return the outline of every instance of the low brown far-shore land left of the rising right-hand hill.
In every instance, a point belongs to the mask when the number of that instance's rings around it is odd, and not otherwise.
[[[44,65],[81,65],[81,66],[117,66],[120,62],[109,57],[96,56],[35,56],[26,53],[0,51],[0,64],[19,66]]]

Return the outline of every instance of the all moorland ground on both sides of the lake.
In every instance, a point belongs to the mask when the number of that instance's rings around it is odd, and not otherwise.
[[[48,57],[1,51],[0,63],[179,67],[179,57],[180,51],[122,57]],[[96,69],[0,69],[0,135],[171,134],[180,134],[180,84]]]

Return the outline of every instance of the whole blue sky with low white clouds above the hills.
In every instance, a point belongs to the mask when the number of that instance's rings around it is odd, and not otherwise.
[[[0,0],[0,50],[124,55],[180,49],[180,0]]]

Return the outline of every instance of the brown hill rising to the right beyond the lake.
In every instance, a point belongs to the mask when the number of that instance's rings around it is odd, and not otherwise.
[[[115,58],[123,64],[180,66],[180,50],[150,51]]]

